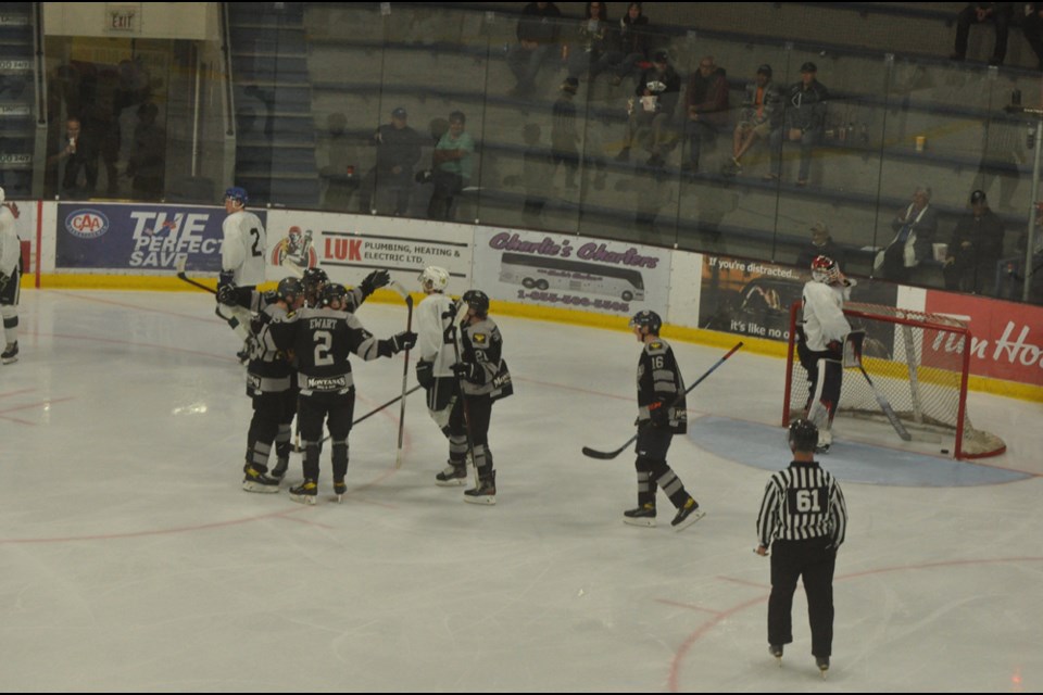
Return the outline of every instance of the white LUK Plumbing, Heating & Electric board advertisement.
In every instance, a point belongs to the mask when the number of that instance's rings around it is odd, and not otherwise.
[[[298,267],[319,266],[344,285],[356,285],[372,270],[382,268],[405,289],[418,291],[420,271],[437,265],[449,270],[451,293],[470,288],[470,237],[461,235],[457,225],[272,211],[267,230],[273,279],[286,275],[278,266],[288,262]]]

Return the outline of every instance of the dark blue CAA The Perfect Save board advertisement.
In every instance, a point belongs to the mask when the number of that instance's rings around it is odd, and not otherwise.
[[[265,223],[264,210],[251,212]],[[226,216],[215,206],[60,203],[55,266],[174,270],[185,256],[188,270],[217,273]]]

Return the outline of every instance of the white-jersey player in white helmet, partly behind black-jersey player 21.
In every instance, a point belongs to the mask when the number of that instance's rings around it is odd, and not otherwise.
[[[453,374],[457,341],[456,305],[445,295],[449,270],[438,266],[424,268],[417,278],[426,295],[416,307],[419,361],[416,380],[427,392],[427,410],[431,419],[449,439],[449,462],[435,477],[439,485],[463,485],[467,482],[467,431],[451,428],[450,415],[463,404],[460,383]],[[454,421],[462,418],[454,418]]]

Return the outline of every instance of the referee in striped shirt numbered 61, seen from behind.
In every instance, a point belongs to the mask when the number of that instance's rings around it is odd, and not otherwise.
[[[815,460],[818,428],[806,419],[794,420],[789,439],[793,462],[771,476],[757,517],[756,553],[767,555],[771,547],[768,652],[781,666],[782,646],[793,642],[793,592],[803,578],[812,654],[826,678],[833,644],[833,568],[847,509],[840,485]]]

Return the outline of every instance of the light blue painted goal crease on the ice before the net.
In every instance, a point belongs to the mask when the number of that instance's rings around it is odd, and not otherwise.
[[[689,424],[688,435],[717,456],[764,470],[783,468],[789,457],[786,430],[781,427],[706,416]],[[841,482],[948,488],[1031,478],[1015,470],[845,441],[835,434],[829,453],[817,458]]]

